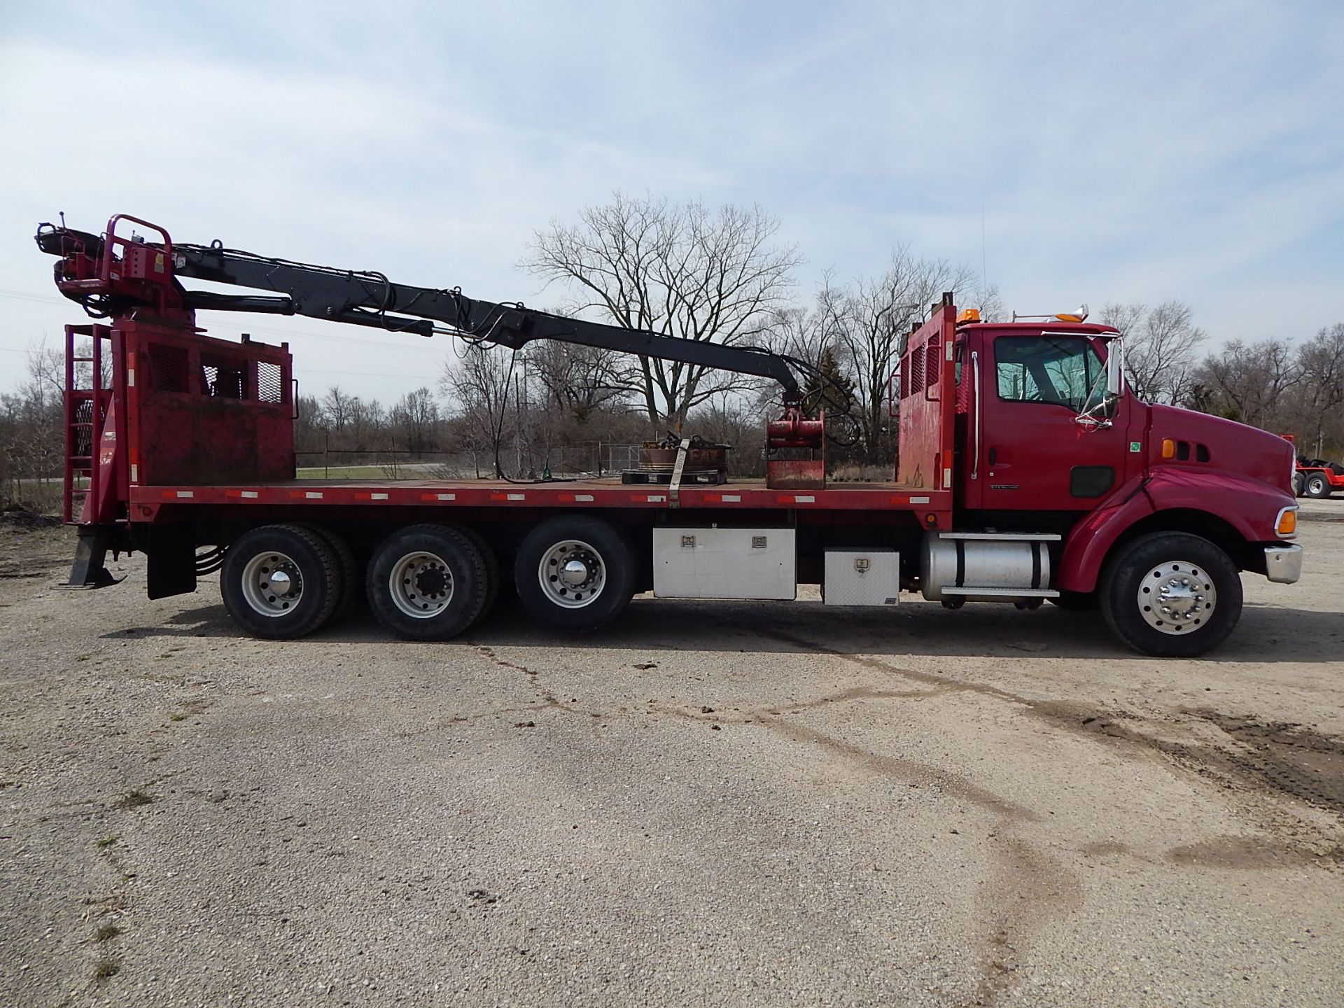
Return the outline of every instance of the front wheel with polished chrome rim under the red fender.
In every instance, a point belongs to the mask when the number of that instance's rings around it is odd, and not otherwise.
[[[1125,544],[1101,577],[1101,612],[1120,640],[1154,657],[1195,657],[1222,644],[1242,614],[1242,578],[1214,543],[1153,532]],[[1161,602],[1171,602],[1164,612]]]

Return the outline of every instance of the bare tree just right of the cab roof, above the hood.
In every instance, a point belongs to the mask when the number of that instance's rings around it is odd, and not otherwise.
[[[1107,304],[1101,321],[1125,337],[1125,370],[1134,395],[1145,402],[1183,402],[1189,394],[1196,353],[1206,339],[1184,301],[1156,308],[1138,302]]]

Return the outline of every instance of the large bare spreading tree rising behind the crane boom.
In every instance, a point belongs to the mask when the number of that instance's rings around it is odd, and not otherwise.
[[[523,265],[574,294],[567,310],[630,329],[718,343],[765,341],[788,304],[793,246],[761,207],[672,204],[616,194],[589,207],[578,224],[539,231]],[[687,413],[724,391],[745,391],[742,375],[638,358],[628,387],[649,422],[680,427]]]

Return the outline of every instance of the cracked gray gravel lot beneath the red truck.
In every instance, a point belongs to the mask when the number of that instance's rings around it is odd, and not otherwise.
[[[0,528],[0,1004],[1340,1005],[1344,500],[1207,661],[637,599],[242,637]]]

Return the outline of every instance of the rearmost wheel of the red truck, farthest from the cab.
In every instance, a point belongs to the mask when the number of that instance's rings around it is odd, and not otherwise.
[[[336,612],[343,591],[340,560],[313,528],[262,526],[228,547],[219,591],[224,609],[247,633],[293,640],[319,629]]]

